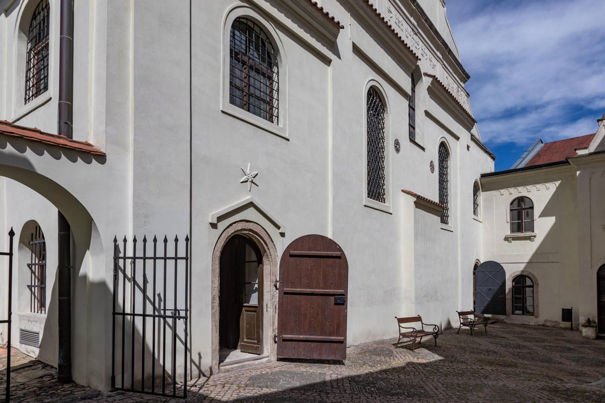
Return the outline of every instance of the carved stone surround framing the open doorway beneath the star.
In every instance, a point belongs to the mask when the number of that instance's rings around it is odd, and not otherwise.
[[[276,345],[273,343],[273,334],[277,332],[277,311],[269,307],[277,306],[278,292],[272,284],[278,278],[278,254],[275,244],[269,233],[253,221],[241,220],[230,224],[223,230],[217,239],[212,251],[212,372],[219,372],[220,364],[220,288],[221,288],[221,254],[224,247],[234,236],[244,236],[252,240],[260,251],[262,272],[263,305],[263,335],[261,335],[261,356],[267,355],[276,359]]]

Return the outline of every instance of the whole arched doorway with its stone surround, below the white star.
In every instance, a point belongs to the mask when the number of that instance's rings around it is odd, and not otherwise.
[[[225,228],[212,253],[212,372],[275,359],[277,276],[277,250],[261,225],[237,221]]]

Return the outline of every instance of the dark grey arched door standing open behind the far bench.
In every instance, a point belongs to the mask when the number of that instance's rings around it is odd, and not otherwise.
[[[500,263],[490,260],[475,269],[475,309],[477,314],[506,315],[506,273]]]

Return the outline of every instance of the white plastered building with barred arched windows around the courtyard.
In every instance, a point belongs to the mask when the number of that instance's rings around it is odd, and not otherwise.
[[[193,379],[226,369],[229,356],[276,359],[280,260],[309,234],[346,256],[347,345],[394,337],[395,315],[456,324],[486,260],[540,284],[539,312],[511,320],[555,324],[567,305],[575,323],[597,315],[590,273],[605,259],[603,233],[578,211],[600,204],[576,189],[603,176],[590,173],[603,134],[565,166],[489,176],[494,156],[473,118],[445,1],[75,2],[73,139],[53,135],[60,3],[0,1],[0,245],[13,227],[16,347],[57,364],[57,209],[71,225],[73,378],[96,388],[112,374],[149,382],[147,370],[166,363],[160,340],[168,359],[187,350]],[[534,192],[535,236],[508,231],[508,206],[523,192]],[[592,252],[580,242],[586,231]],[[152,260],[114,261],[114,237],[132,257],[135,236],[137,256],[143,237],[150,256],[157,236],[163,256],[165,234],[169,255],[178,236],[180,257],[189,236],[188,278],[174,288],[172,274],[158,275],[168,291],[152,292],[142,274]],[[31,243],[42,238],[44,255]],[[113,321],[113,301],[116,312],[188,321],[171,319],[166,335],[149,330],[155,318],[135,319],[130,332],[131,318]],[[131,342],[154,364],[139,369]],[[182,379],[179,360],[168,372]]]

